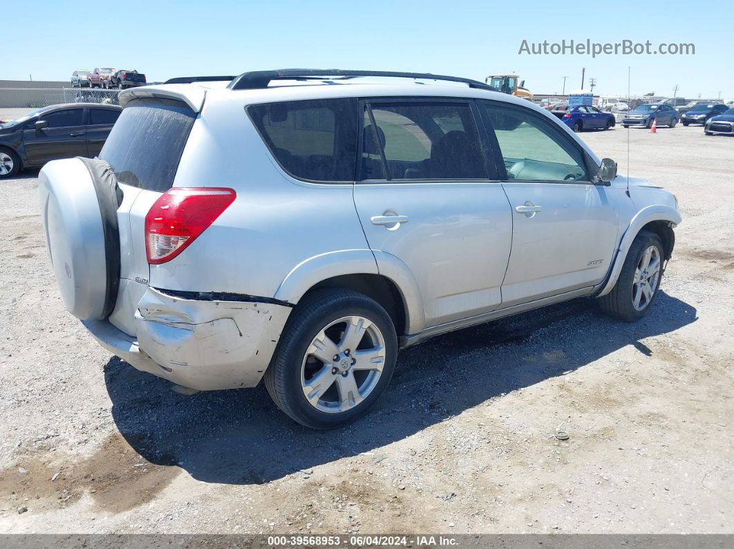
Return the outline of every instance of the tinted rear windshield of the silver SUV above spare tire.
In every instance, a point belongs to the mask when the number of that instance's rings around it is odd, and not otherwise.
[[[179,101],[131,101],[109,133],[100,158],[112,166],[120,183],[167,191],[195,119],[195,112]]]

